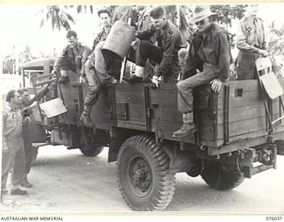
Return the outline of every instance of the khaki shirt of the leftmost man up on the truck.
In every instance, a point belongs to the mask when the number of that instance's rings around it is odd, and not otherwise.
[[[58,72],[59,70],[72,70],[78,74],[85,74],[84,65],[90,54],[91,49],[81,43],[78,43],[73,48],[67,45],[59,58],[56,59],[54,69]]]

